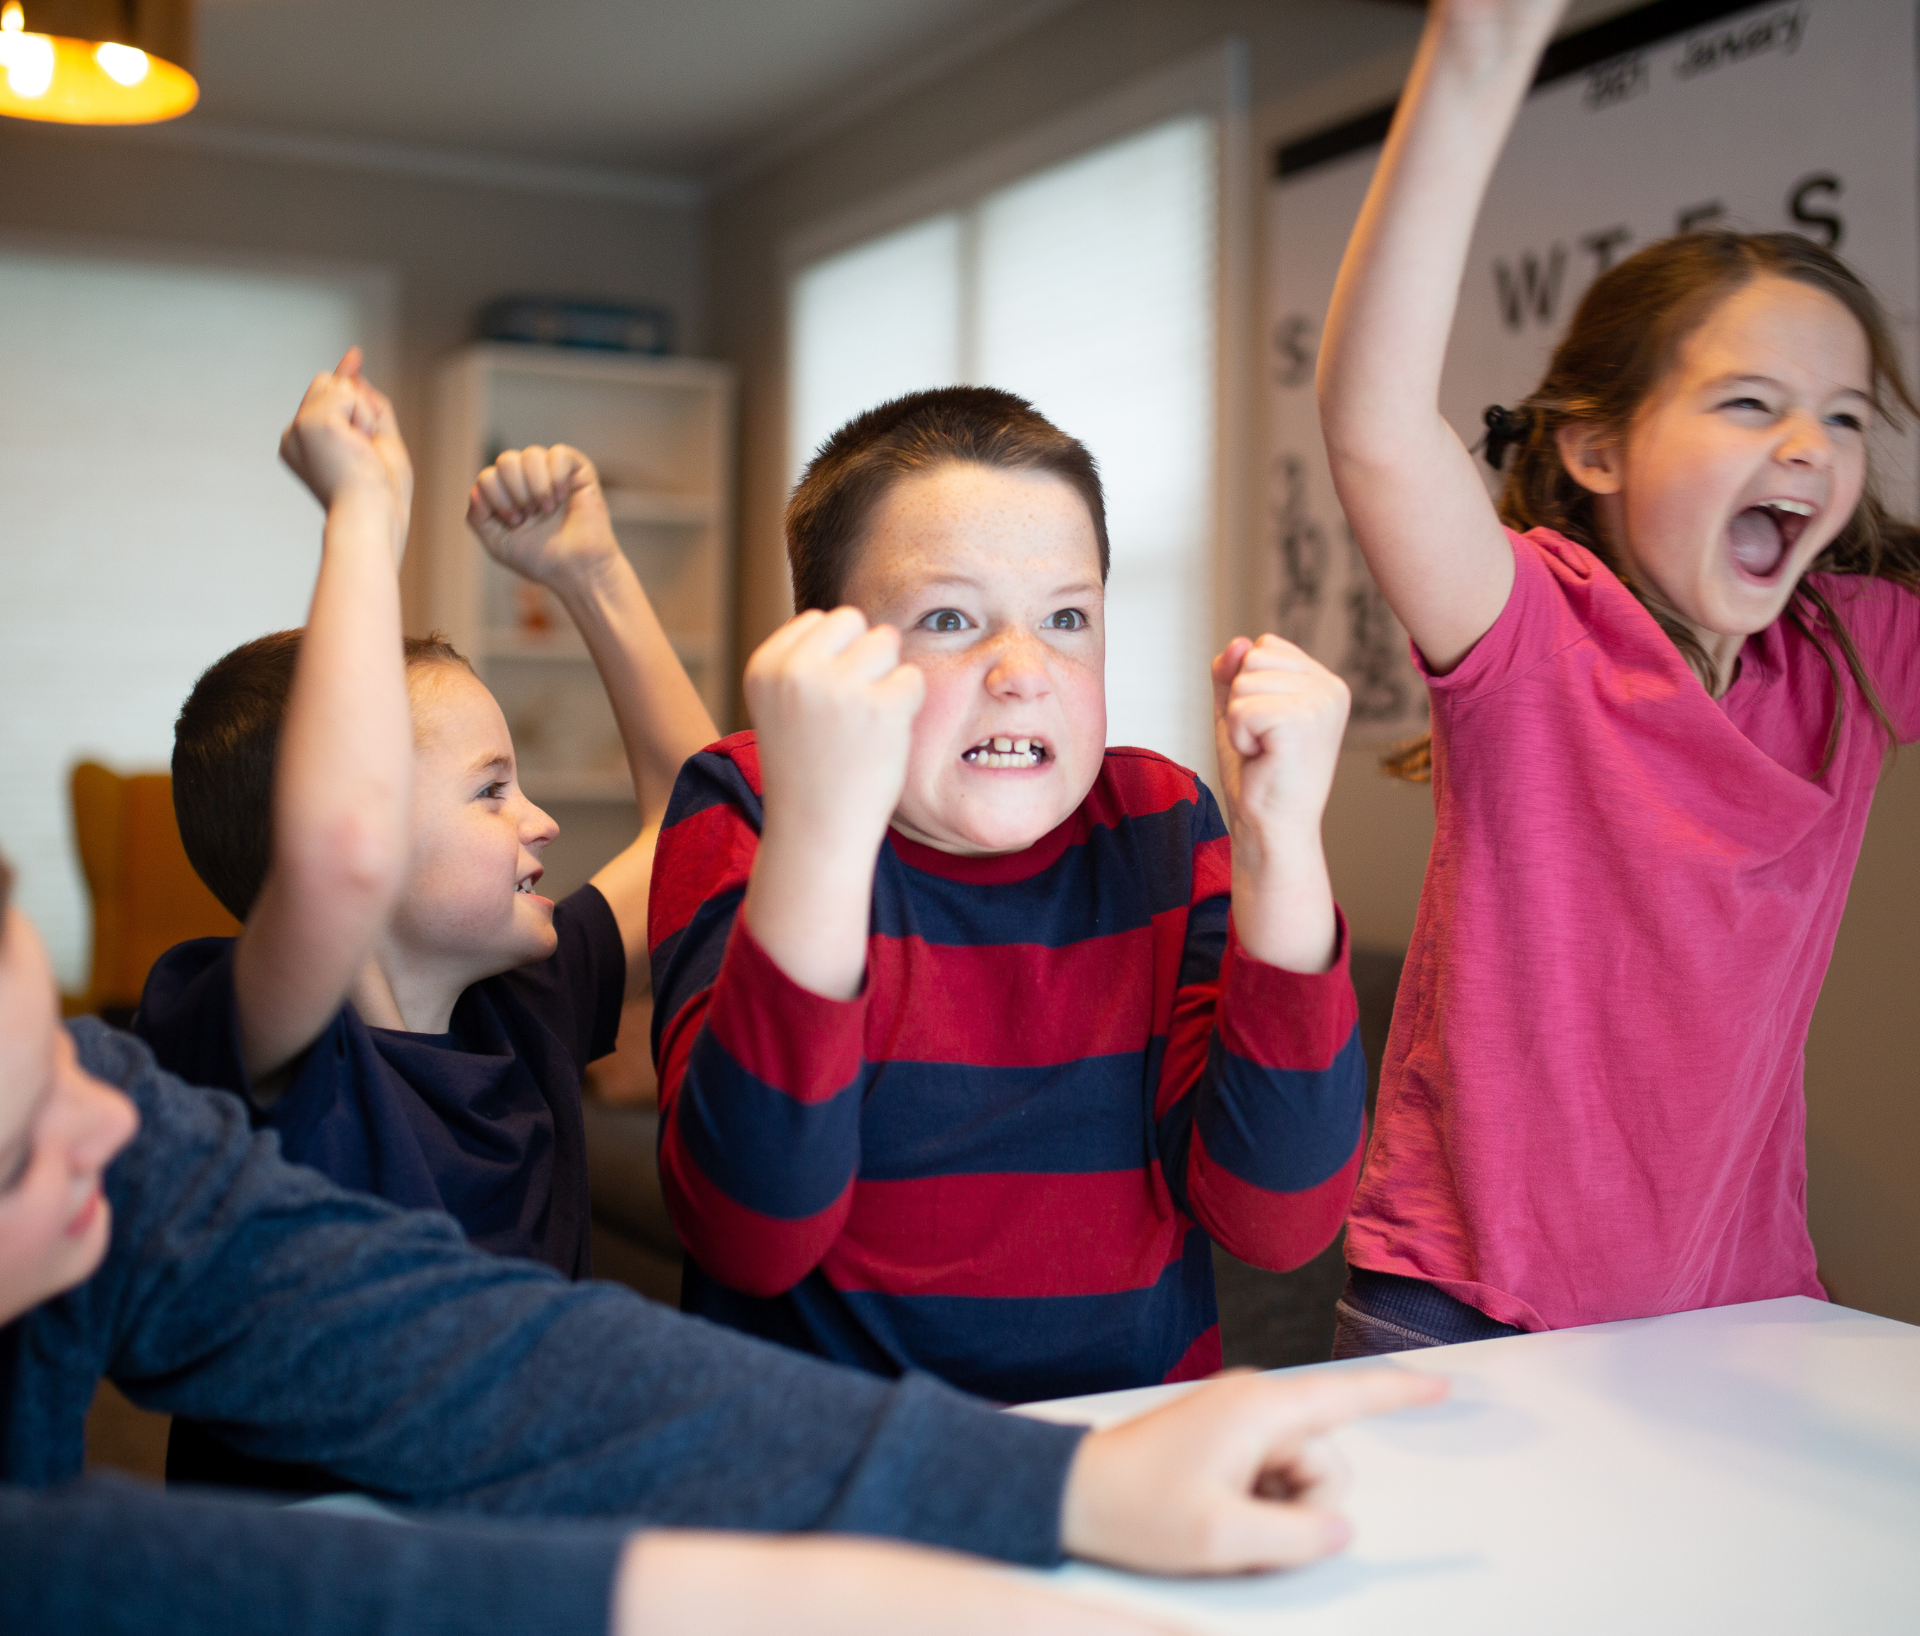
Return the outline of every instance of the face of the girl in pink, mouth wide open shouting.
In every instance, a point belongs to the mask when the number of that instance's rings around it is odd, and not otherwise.
[[[1780,618],[1847,526],[1872,413],[1853,313],[1761,277],[1686,338],[1617,449],[1563,453],[1632,572],[1713,651]]]

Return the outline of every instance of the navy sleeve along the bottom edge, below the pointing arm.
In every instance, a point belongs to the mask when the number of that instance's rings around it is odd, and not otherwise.
[[[88,1480],[0,1488],[0,1630],[605,1636],[622,1530],[405,1527]]]

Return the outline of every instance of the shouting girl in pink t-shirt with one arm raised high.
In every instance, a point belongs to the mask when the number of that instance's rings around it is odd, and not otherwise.
[[[1490,417],[1498,515],[1440,417],[1561,8],[1436,6],[1321,353],[1340,501],[1428,676],[1438,816],[1340,1356],[1822,1296],[1807,1023],[1874,782],[1920,737],[1920,545],[1866,457],[1914,401],[1826,250],[1695,232],[1597,278]]]

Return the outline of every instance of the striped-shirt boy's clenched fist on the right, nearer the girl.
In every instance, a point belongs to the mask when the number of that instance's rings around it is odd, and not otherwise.
[[[1319,835],[1346,730],[1346,682],[1290,641],[1236,636],[1213,661],[1213,737],[1235,849]]]

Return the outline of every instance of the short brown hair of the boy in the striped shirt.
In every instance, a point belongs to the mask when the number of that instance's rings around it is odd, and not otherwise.
[[[856,415],[808,461],[787,501],[793,607],[839,607],[874,507],[900,478],[948,461],[1046,472],[1071,486],[1092,518],[1100,580],[1106,580],[1106,495],[1087,445],[1012,392],[941,386]]]

